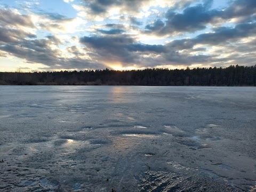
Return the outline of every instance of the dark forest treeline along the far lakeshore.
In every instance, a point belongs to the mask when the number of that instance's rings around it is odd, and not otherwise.
[[[256,86],[256,65],[226,68],[1,72],[0,85]]]

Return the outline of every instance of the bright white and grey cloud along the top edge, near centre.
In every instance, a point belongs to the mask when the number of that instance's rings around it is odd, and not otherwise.
[[[197,0],[196,0],[197,1]],[[189,5],[193,0],[83,0],[81,4],[73,4],[74,9],[79,11],[81,17],[94,21],[102,21],[113,15],[123,14],[130,15],[131,22],[134,25],[140,25],[140,22],[134,18],[143,18],[151,14],[150,7],[178,7],[181,9]],[[136,24],[137,23],[137,24]]]

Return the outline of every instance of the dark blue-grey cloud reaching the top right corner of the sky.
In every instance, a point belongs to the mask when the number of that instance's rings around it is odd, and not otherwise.
[[[203,30],[218,19],[225,22],[229,19],[237,19],[237,22],[252,22],[256,19],[256,1],[254,0],[236,0],[231,2],[224,10],[215,10],[211,8],[212,1],[205,1],[204,4],[197,4],[186,7],[182,13],[170,9],[164,19],[157,19],[153,23],[146,25],[145,33],[154,33],[159,36],[193,33]]]

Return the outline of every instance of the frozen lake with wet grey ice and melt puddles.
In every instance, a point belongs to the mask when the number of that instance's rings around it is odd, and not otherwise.
[[[255,87],[0,86],[0,131],[1,191],[256,191]]]

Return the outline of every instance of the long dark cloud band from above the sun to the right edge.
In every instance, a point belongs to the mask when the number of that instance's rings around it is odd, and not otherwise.
[[[120,61],[124,66],[139,63],[140,66],[154,67],[158,65],[191,65],[193,63],[218,63],[232,60],[232,58],[217,57],[223,53],[202,54],[205,47],[194,48],[195,45],[219,45],[236,44],[243,37],[250,37],[256,34],[256,23],[238,24],[233,28],[214,28],[212,33],[205,33],[195,38],[177,39],[165,45],[147,45],[138,42],[135,37],[129,35],[108,35],[83,37],[80,42],[88,50],[94,52],[95,59]],[[200,52],[201,54],[195,54]],[[143,57],[142,55],[148,55]],[[153,55],[153,56],[150,56]],[[154,58],[154,55],[158,55]],[[159,64],[160,63],[160,64]]]

